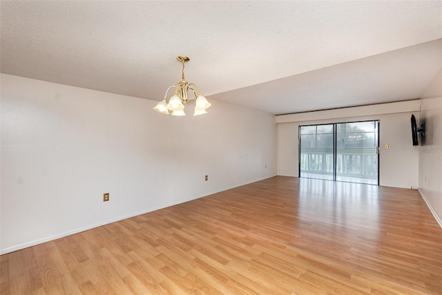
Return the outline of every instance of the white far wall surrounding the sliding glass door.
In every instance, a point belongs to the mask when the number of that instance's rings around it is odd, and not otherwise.
[[[402,104],[401,104],[402,105]],[[345,108],[342,110],[330,110],[298,114],[299,117],[320,117],[325,119],[278,123],[278,174],[298,177],[298,126],[314,125],[321,123],[340,123],[352,121],[380,121],[379,142],[381,153],[379,156],[379,185],[391,187],[418,187],[419,152],[418,147],[412,145],[410,117],[412,114],[419,120],[419,101],[405,102],[405,108],[396,105],[400,113],[394,114],[371,114],[369,116],[348,116],[348,114],[367,112],[383,113],[390,108],[387,105],[373,105],[358,108]],[[376,111],[377,109],[377,111]],[[406,110],[416,110],[407,112]],[[329,118],[327,119],[327,114]],[[339,114],[342,114],[340,116]],[[318,116],[319,115],[319,116]],[[287,115],[286,119],[291,116]],[[277,121],[284,121],[277,117]],[[286,121],[287,121],[286,120]],[[390,145],[385,150],[385,144]]]

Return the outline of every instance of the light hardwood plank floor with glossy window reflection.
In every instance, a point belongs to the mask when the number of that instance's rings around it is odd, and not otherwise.
[[[273,177],[4,254],[7,294],[442,294],[414,190]]]

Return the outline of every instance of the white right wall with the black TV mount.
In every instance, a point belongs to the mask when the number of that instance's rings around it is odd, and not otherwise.
[[[422,96],[422,122],[426,134],[419,146],[419,192],[442,227],[442,70]]]

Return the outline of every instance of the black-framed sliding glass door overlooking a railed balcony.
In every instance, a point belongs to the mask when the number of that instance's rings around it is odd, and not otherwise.
[[[378,121],[299,129],[300,177],[378,185]]]

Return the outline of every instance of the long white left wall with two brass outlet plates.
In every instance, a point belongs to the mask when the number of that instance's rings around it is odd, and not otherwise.
[[[1,74],[0,252],[277,174],[273,115],[155,103]]]

